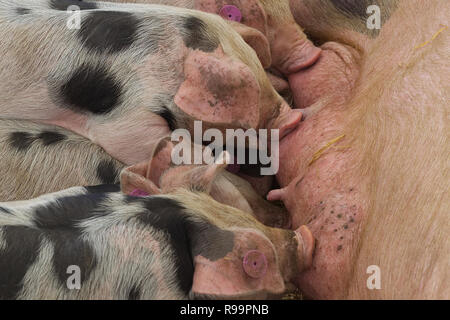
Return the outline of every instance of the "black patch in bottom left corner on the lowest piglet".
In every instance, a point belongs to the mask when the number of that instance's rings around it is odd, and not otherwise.
[[[0,249],[0,299],[16,299],[23,279],[39,254],[41,232],[24,226],[1,228],[4,248]]]

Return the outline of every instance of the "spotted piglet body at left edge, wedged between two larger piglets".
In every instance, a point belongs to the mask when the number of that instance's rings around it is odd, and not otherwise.
[[[0,202],[119,183],[123,168],[101,147],[69,130],[0,119]]]

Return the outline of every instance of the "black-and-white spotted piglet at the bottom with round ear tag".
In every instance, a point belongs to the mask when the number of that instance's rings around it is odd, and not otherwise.
[[[311,263],[305,227],[267,228],[205,193],[117,189],[0,203],[0,299],[265,298]]]

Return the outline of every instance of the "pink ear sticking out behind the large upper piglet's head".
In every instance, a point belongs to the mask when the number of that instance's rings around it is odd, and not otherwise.
[[[242,23],[229,21],[233,29],[239,33],[247,44],[255,50],[264,69],[272,65],[272,54],[267,37],[259,30],[251,28]]]

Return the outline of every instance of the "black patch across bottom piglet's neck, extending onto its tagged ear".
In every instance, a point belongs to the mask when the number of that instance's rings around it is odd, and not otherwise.
[[[193,257],[202,255],[215,261],[233,249],[234,235],[207,222],[189,219],[184,207],[171,199],[160,197],[133,198],[141,202],[147,212],[139,220],[165,232],[175,251],[175,266],[180,289],[186,294],[192,287],[194,275]]]

